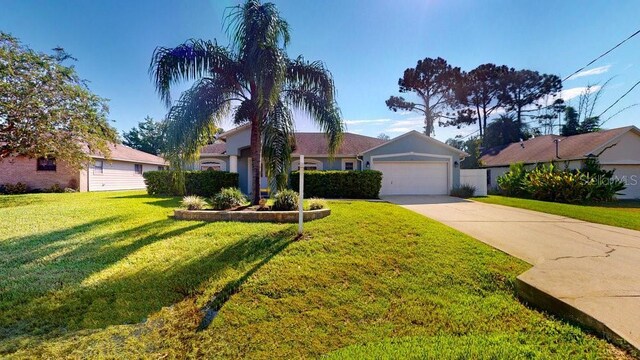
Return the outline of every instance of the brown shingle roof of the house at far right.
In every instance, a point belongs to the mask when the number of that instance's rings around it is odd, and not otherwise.
[[[598,152],[630,130],[640,133],[635,126],[626,126],[573,136],[537,136],[521,143],[488,149],[483,152],[480,161],[483,167],[493,167],[509,166],[519,162],[534,164],[554,160],[585,159],[589,155],[598,155]],[[555,140],[560,141],[558,144],[560,159],[556,157]]]

